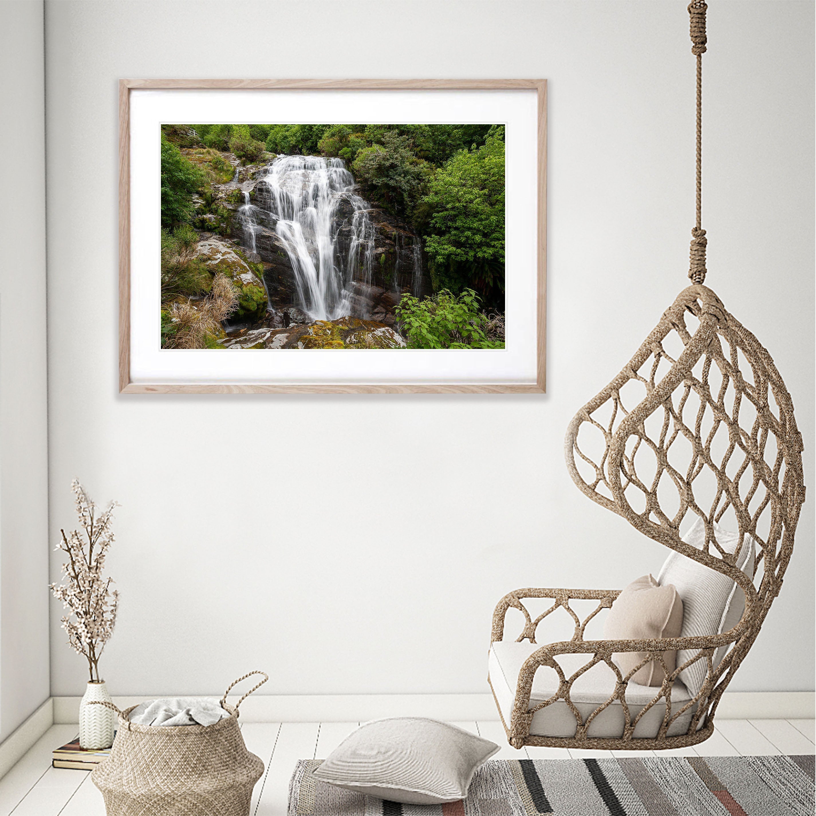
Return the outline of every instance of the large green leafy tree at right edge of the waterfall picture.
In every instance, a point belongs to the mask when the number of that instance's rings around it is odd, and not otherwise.
[[[475,286],[491,305],[504,291],[504,128],[460,150],[433,176],[425,248],[435,289]]]

